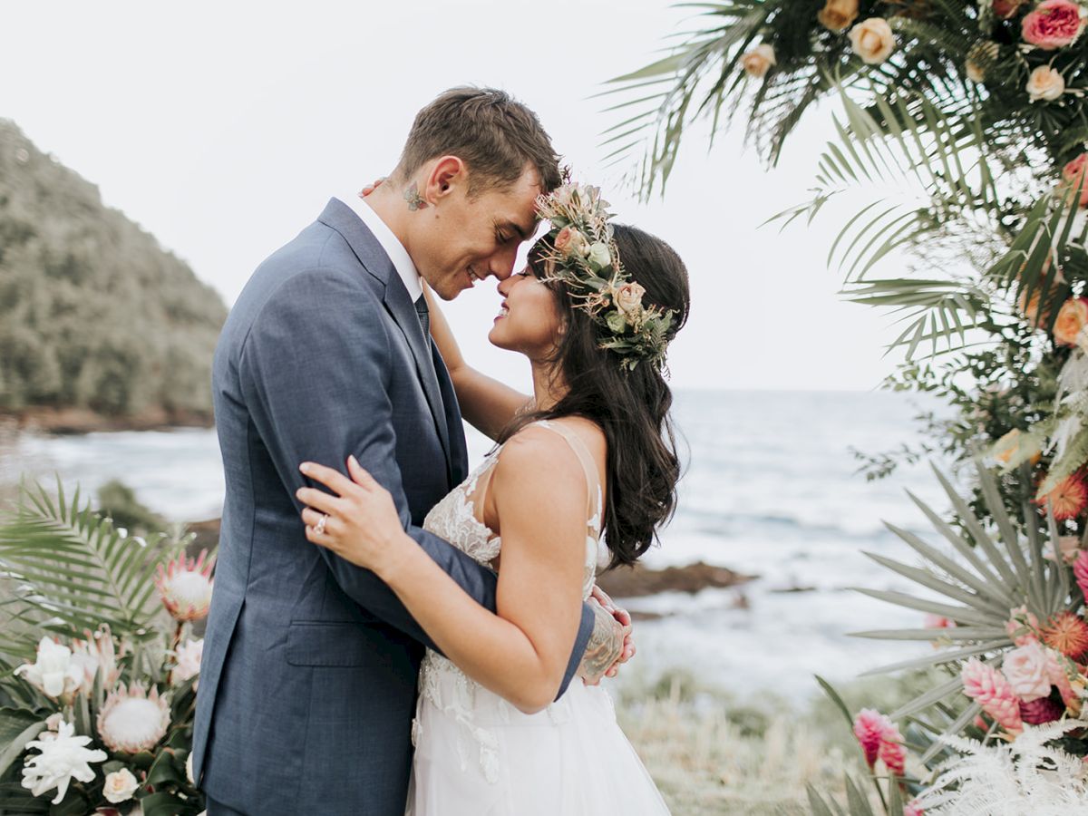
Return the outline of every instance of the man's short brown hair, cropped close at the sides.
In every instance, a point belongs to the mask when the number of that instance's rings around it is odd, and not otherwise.
[[[416,114],[397,175],[408,178],[424,162],[456,156],[469,169],[469,194],[514,184],[531,164],[541,188],[559,186],[559,157],[536,114],[494,88],[459,87]]]

